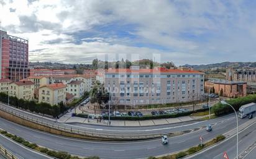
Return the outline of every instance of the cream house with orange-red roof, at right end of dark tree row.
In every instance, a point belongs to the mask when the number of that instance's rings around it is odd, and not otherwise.
[[[39,87],[39,103],[58,105],[66,103],[66,85],[62,83],[42,85]]]

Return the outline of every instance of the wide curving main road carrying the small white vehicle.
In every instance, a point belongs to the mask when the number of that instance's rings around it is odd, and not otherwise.
[[[162,145],[160,139],[145,140],[139,142],[96,142],[81,139],[70,139],[58,135],[36,131],[28,127],[14,124],[6,119],[0,118],[0,128],[16,134],[30,142],[53,150],[62,150],[73,155],[92,156],[97,155],[101,158],[147,158],[149,156],[162,155],[183,150],[199,144],[199,135],[203,135],[204,140],[213,139],[219,134],[230,131],[235,127],[235,117],[225,116],[213,120],[212,132],[204,129],[191,132],[190,134],[171,137],[168,145]],[[216,122],[217,121],[217,122]],[[239,119],[239,124],[248,121],[247,118]],[[205,124],[205,123],[204,123]],[[179,129],[183,129],[181,127]],[[172,128],[174,129],[174,128]],[[19,149],[14,149],[19,151]],[[21,150],[22,151],[22,150]]]

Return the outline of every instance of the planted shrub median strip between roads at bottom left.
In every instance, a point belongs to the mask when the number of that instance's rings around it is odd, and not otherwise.
[[[49,155],[50,157],[59,158],[59,159],[99,159],[99,157],[95,157],[95,156],[88,157],[88,158],[80,158],[80,157],[76,157],[76,156],[71,156],[67,152],[62,152],[62,151],[58,152],[55,150],[48,150],[48,148],[40,147],[39,145],[30,143],[30,142],[22,139],[21,137],[17,137],[16,135],[9,134],[7,131],[0,130],[0,133],[5,135],[6,137],[9,137],[12,140],[15,140],[16,142],[19,142],[20,144],[24,145],[25,147],[32,148],[41,153]]]

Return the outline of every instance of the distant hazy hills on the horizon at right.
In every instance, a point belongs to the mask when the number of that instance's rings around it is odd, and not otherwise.
[[[221,62],[216,64],[200,64],[200,65],[190,65],[185,64],[184,67],[194,67],[196,70],[206,70],[206,69],[245,69],[245,68],[255,68],[256,62]]]

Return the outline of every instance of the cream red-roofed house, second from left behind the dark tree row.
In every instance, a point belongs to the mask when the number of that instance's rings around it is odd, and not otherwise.
[[[9,84],[9,95],[19,99],[34,100],[34,83],[26,80],[11,82]]]

